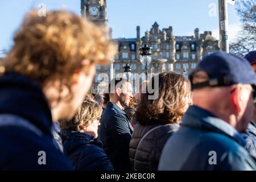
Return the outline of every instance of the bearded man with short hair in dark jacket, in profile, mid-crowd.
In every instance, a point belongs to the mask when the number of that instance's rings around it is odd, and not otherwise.
[[[117,171],[129,171],[129,143],[133,127],[123,109],[133,98],[131,83],[113,78],[109,83],[109,102],[101,117],[99,138],[103,149]]]

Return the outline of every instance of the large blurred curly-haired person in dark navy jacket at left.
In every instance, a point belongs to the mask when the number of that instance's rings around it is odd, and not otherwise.
[[[71,119],[115,52],[105,33],[67,11],[31,11],[0,71],[0,169],[68,170],[52,121]]]

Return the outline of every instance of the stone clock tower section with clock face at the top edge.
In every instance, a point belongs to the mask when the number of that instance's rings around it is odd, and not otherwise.
[[[106,26],[106,0],[81,0],[81,15],[95,24]]]

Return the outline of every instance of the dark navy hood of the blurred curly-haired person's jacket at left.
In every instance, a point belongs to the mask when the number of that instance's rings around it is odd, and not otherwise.
[[[0,77],[0,113],[19,115],[51,135],[52,115],[40,85],[16,72]]]

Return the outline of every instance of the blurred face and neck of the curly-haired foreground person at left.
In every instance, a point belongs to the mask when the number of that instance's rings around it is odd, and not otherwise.
[[[96,73],[95,65],[87,65],[86,68],[88,68],[87,75],[82,70],[73,75],[71,88],[61,84],[60,80],[48,82],[44,86],[43,92],[51,107],[53,121],[72,119],[77,108],[82,104]]]

